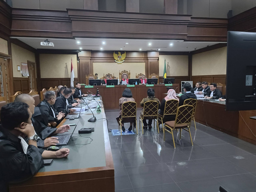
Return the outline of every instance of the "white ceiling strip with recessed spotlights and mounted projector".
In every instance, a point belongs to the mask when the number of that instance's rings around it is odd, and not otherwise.
[[[52,46],[41,46],[40,42],[46,38],[11,37],[28,44],[35,49],[58,49],[58,50],[101,50],[102,51],[182,51],[190,52],[207,46],[226,42],[184,42],[183,40],[148,40],[148,39],[109,39],[109,38],[76,38],[57,39],[48,38],[54,43]],[[77,44],[80,41],[80,44]],[[102,44],[106,42],[106,44]],[[128,43],[128,44],[126,44]],[[151,45],[148,45],[151,43]],[[170,46],[170,44],[173,44]]]

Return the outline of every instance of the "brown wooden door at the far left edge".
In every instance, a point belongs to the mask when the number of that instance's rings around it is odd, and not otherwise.
[[[9,102],[10,80],[9,80],[9,59],[0,58],[0,97]]]

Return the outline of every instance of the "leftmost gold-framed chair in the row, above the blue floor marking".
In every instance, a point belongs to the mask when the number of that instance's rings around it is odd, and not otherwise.
[[[119,118],[118,130],[121,129],[122,122],[123,123],[135,122],[136,123],[137,135],[138,135],[136,113],[137,113],[137,103],[136,102],[134,102],[134,101],[124,102],[122,104],[122,115],[121,115],[121,118]],[[134,125],[133,125],[133,130],[134,130]],[[121,129],[121,136],[122,136],[122,129]]]

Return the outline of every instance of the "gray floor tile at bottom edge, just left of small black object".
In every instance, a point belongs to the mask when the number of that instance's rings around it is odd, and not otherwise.
[[[176,183],[182,192],[218,192],[220,182],[214,178]]]

